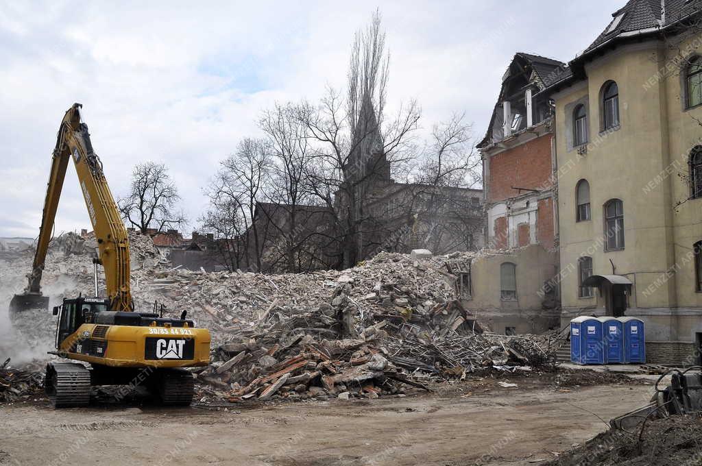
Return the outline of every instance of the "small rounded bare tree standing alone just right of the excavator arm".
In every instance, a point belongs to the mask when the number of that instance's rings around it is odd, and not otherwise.
[[[178,201],[178,188],[168,168],[148,161],[134,167],[130,192],[117,204],[124,220],[147,233],[150,228],[161,232],[185,224],[183,211],[177,209]]]

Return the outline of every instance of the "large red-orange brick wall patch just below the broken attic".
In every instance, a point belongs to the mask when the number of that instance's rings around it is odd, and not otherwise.
[[[515,197],[519,192],[512,187],[551,186],[551,138],[543,135],[489,158],[489,203]]]

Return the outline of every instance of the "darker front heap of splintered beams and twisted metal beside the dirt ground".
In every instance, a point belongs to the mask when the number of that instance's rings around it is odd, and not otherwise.
[[[196,371],[201,399],[376,398],[466,373],[555,364],[538,338],[484,333],[458,300],[362,313],[346,277],[329,303],[289,314],[270,306],[256,326],[219,345],[213,364]]]

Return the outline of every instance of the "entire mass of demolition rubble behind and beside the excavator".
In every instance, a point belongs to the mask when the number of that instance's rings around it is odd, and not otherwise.
[[[44,271],[52,304],[93,289],[96,244],[61,238]],[[457,299],[445,256],[379,253],[351,269],[310,274],[202,272],[171,267],[150,237],[130,232],[129,240],[135,308],[186,310],[211,331],[211,366],[192,369],[201,401],[376,398],[428,390],[429,380],[555,361],[543,339],[491,335]],[[31,260],[27,253],[0,261],[0,278],[28,272]],[[48,329],[50,349],[51,312],[31,321]]]

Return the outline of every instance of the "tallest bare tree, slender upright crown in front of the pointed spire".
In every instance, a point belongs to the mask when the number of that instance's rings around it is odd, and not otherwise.
[[[389,182],[390,169],[402,168],[411,153],[420,110],[415,101],[401,106],[385,123],[389,53],[376,11],[371,23],[356,33],[350,56],[345,101],[327,88],[319,105],[298,106],[314,142],[310,191],[333,211],[334,230],[344,267],[365,256],[376,234],[366,208],[369,192]]]

